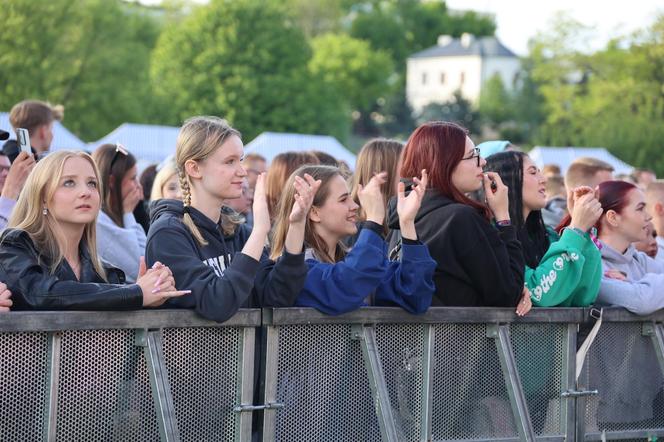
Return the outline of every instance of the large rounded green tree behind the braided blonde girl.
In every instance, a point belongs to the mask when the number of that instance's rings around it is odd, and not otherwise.
[[[308,70],[310,58],[302,31],[277,2],[213,0],[162,33],[151,77],[172,123],[214,114],[247,139],[266,130],[343,139],[347,109]]]

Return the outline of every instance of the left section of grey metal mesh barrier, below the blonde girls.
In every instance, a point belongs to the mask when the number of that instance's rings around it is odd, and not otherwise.
[[[249,440],[260,310],[0,315],[0,440]]]

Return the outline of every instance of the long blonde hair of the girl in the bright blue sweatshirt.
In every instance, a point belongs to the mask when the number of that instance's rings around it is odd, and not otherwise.
[[[309,174],[315,180],[321,180],[321,185],[316,195],[314,196],[313,206],[320,207],[325,204],[325,200],[330,195],[330,181],[332,178],[341,175],[341,171],[333,166],[302,166],[297,169],[288,178],[284,186],[281,198],[277,204],[277,215],[274,221],[274,232],[272,235],[272,252],[270,259],[276,260],[284,250],[286,243],[286,235],[288,233],[289,217],[295,202],[295,177],[304,177],[304,174]],[[314,230],[313,222],[309,219],[309,214],[306,215],[307,220],[304,228],[304,246],[313,249],[318,259],[323,262],[335,263],[341,261],[346,255],[346,247],[342,243],[338,243],[336,250],[329,251],[325,245],[325,241]],[[332,252],[332,253],[331,253]]]

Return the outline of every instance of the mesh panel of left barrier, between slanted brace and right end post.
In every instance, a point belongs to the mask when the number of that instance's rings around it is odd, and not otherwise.
[[[242,329],[164,329],[164,358],[183,441],[235,440]],[[250,355],[249,357],[253,357]]]

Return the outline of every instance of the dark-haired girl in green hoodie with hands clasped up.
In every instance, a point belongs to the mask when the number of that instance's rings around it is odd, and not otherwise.
[[[589,233],[602,206],[592,190],[575,192],[569,225],[559,236],[542,220],[546,179],[527,154],[496,153],[486,159],[485,170],[500,175],[509,189],[510,219],[526,261],[525,282],[533,305],[591,305],[602,279],[600,252]]]

